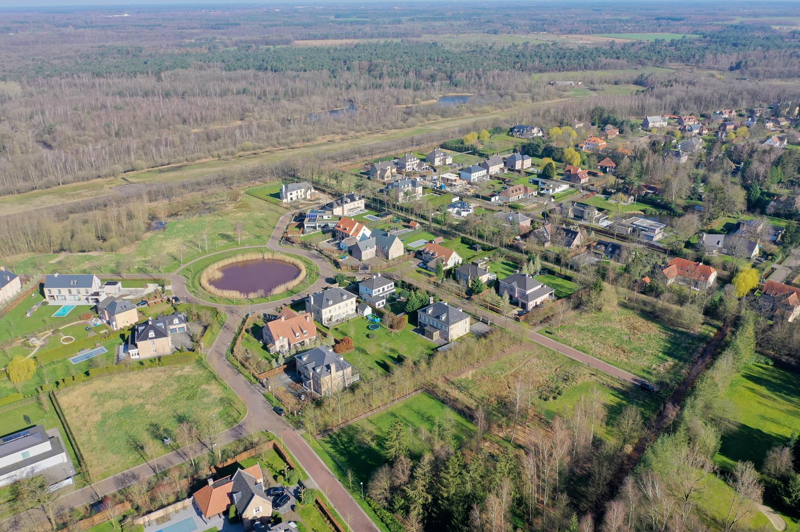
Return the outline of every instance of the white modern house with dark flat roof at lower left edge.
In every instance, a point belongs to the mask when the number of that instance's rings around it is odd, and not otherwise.
[[[0,488],[69,463],[58,429],[51,432],[36,425],[0,438]]]

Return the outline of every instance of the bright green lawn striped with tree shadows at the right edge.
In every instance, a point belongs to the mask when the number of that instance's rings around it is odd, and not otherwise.
[[[767,451],[800,432],[800,379],[797,374],[752,364],[731,383],[736,428],[722,436],[715,457],[723,467],[750,460],[760,469]]]

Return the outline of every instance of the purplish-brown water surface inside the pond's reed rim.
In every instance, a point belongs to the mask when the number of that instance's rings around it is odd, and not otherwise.
[[[293,264],[275,259],[245,260],[220,268],[222,276],[209,281],[219,290],[236,290],[243,294],[264,291],[264,295],[300,275]]]

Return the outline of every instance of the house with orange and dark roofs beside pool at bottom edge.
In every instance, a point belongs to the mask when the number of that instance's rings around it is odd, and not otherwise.
[[[256,463],[247,469],[208,483],[192,495],[192,504],[206,519],[225,515],[231,506],[245,530],[253,528],[256,521],[272,516],[272,497],[264,492],[264,475]]]

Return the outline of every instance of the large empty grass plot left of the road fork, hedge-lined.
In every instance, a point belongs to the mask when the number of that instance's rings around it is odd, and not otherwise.
[[[171,435],[176,442],[184,420],[218,433],[246,412],[200,361],[97,378],[58,392],[58,399],[96,480],[144,462],[140,445],[152,447],[150,456],[174,450],[161,440]]]

